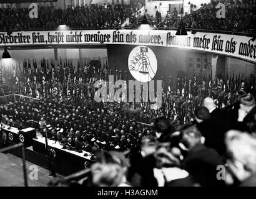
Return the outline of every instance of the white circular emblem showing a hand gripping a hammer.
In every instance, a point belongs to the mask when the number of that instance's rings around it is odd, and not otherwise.
[[[144,45],[132,49],[128,58],[130,74],[135,80],[147,82],[154,78],[157,72],[157,58],[154,52]]]

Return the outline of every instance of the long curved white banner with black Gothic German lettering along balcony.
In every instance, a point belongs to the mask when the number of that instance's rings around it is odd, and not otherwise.
[[[256,42],[252,37],[197,32],[176,36],[175,30],[63,30],[0,33],[0,46],[125,44],[178,47],[203,50],[256,63]]]

